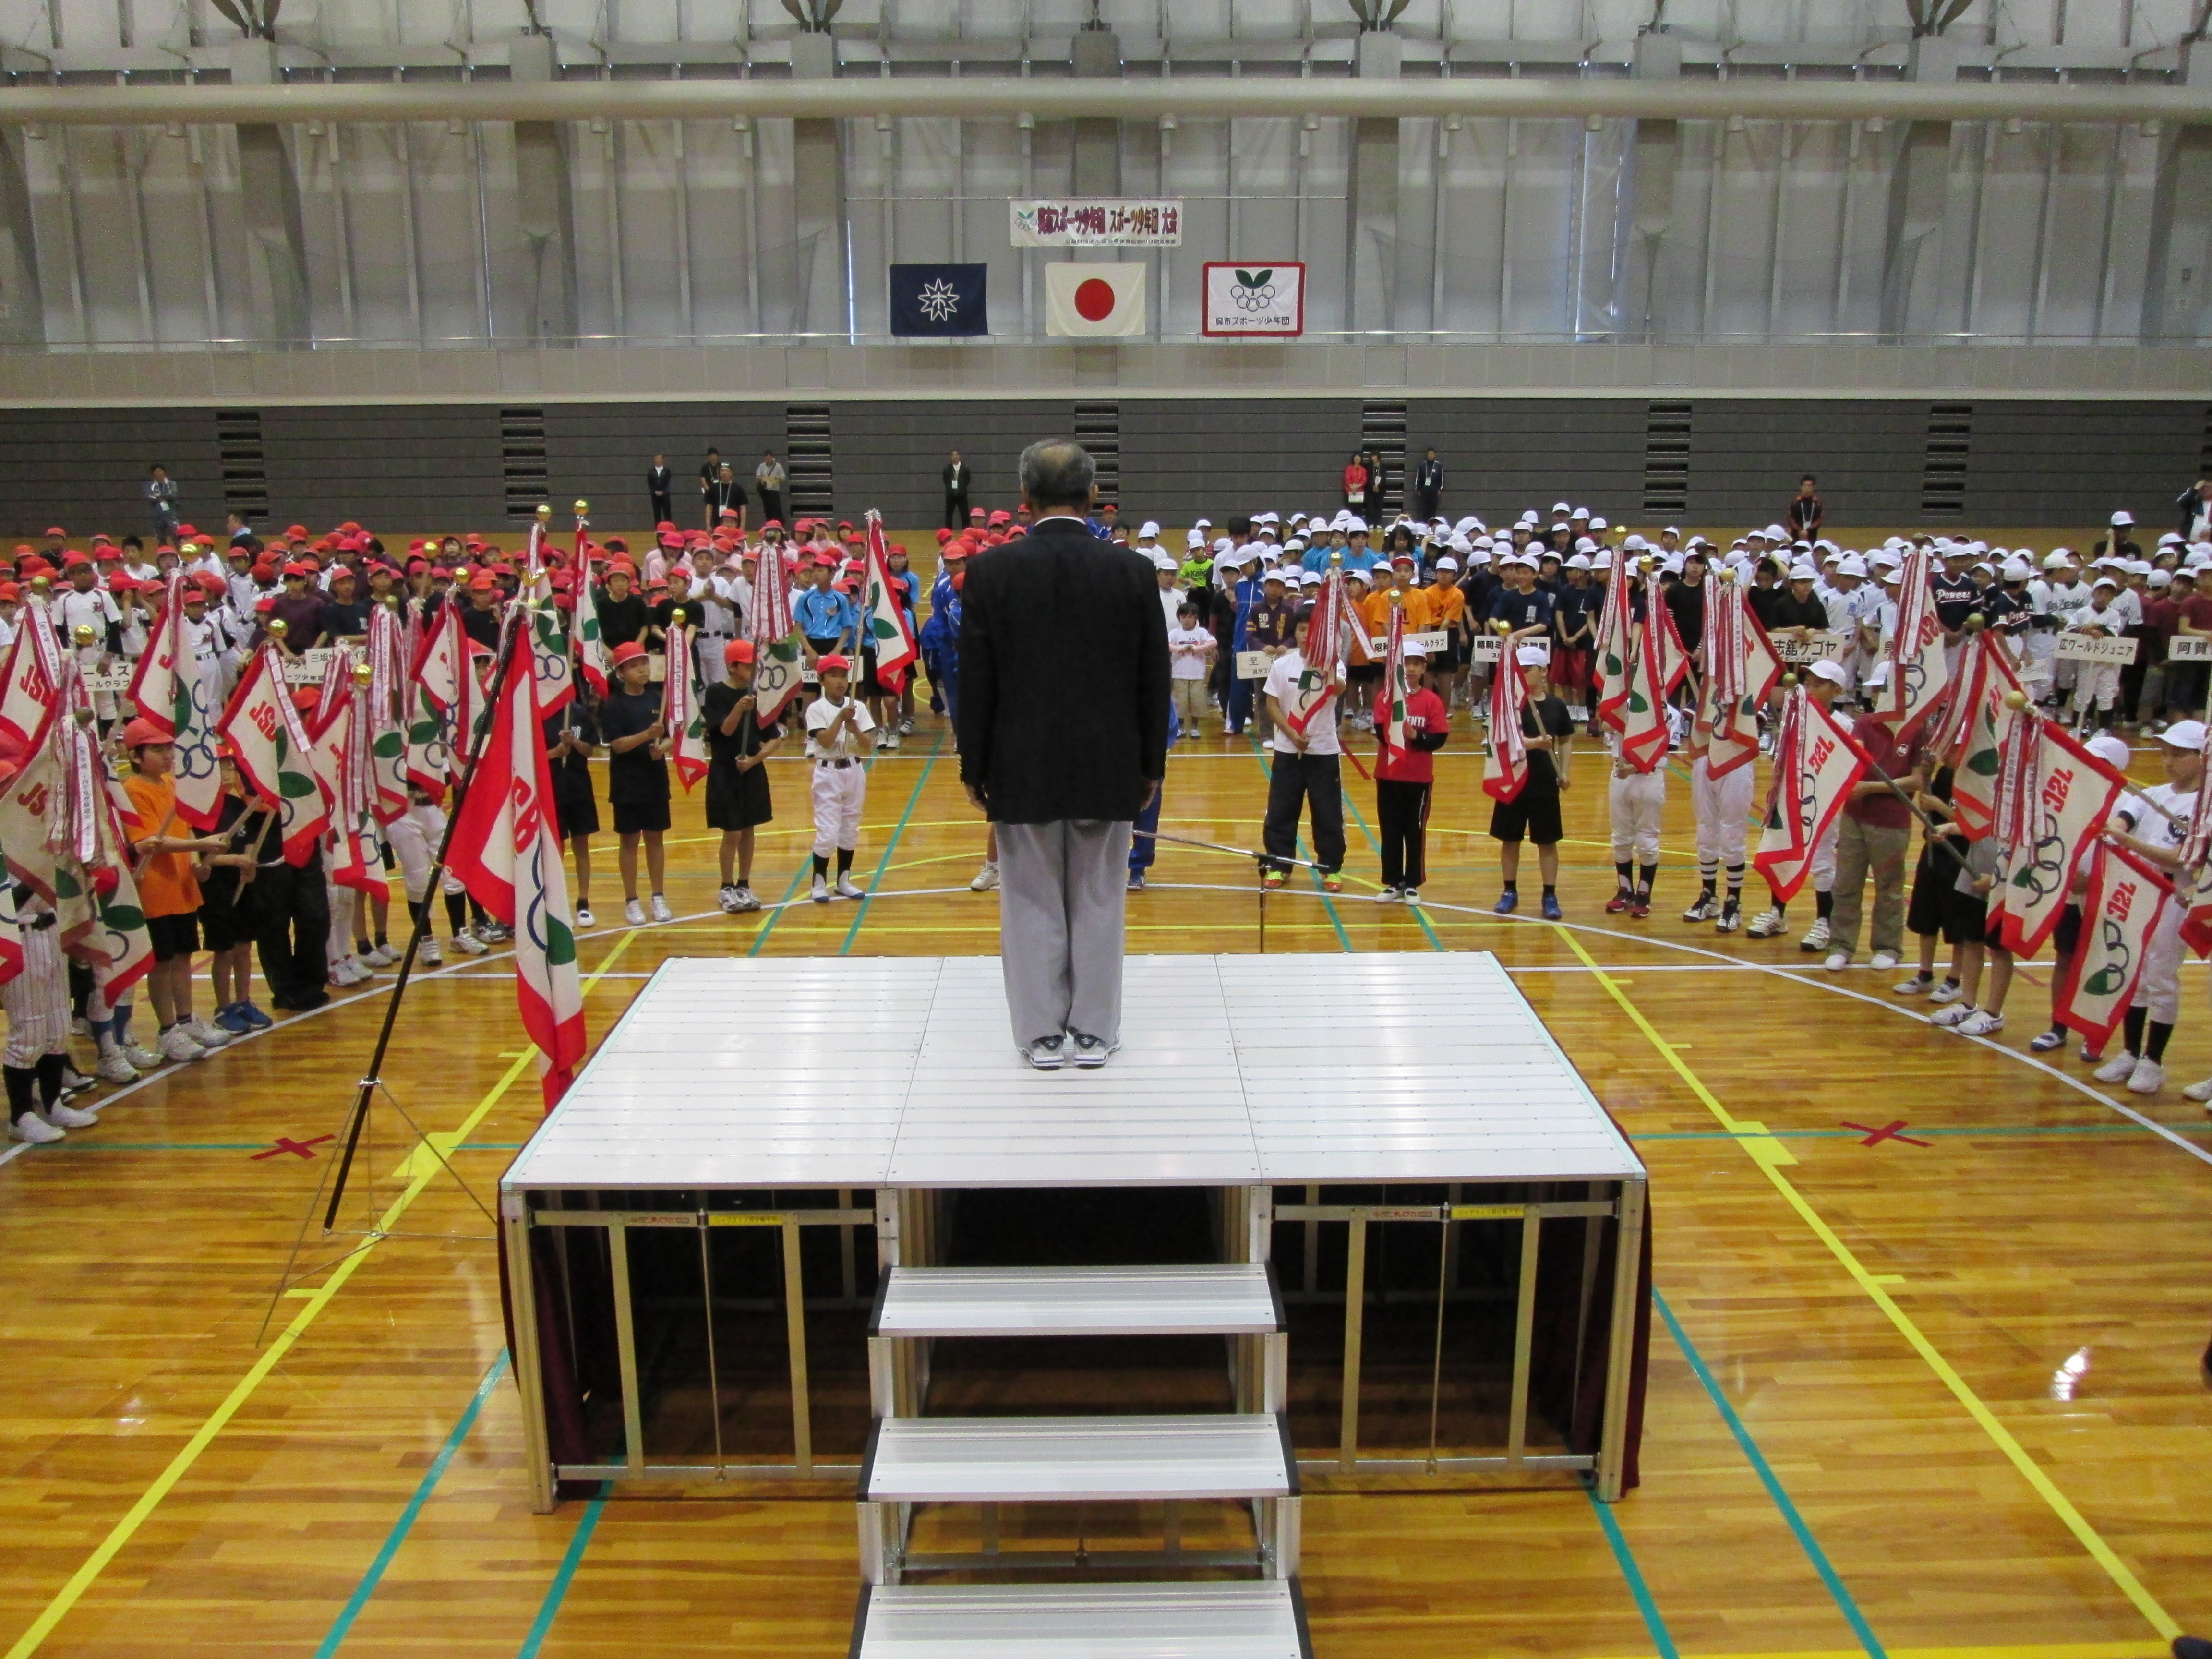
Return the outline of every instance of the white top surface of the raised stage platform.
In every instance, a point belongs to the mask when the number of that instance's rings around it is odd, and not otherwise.
[[[1489,953],[1133,956],[1031,1071],[998,958],[677,958],[502,1190],[1641,1181]]]

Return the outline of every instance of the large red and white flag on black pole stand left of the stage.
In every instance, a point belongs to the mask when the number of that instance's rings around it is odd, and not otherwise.
[[[451,869],[478,905],[515,931],[515,1000],[553,1110],[584,1057],[584,987],[542,732],[531,659],[509,653],[493,688],[491,730],[453,818]]]

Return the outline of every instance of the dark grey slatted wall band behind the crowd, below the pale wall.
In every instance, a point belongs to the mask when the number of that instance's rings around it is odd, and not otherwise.
[[[1086,398],[1086,403],[1091,403]],[[1121,513],[1181,526],[1263,507],[1336,511],[1338,476],[1360,440],[1358,398],[1115,398]],[[1022,445],[1075,429],[1075,400],[838,403],[832,409],[836,513],[876,507],[898,529],[938,522],[947,449],[975,467],[973,502],[1013,507]],[[1524,507],[1588,504],[1617,524],[1650,524],[1644,449],[1650,398],[1409,398],[1407,453],[1436,445],[1444,511],[1511,522]],[[785,456],[781,403],[591,403],[544,407],[549,500],[566,529],[586,495],[602,533],[648,520],[646,462],[677,473],[677,518],[692,526],[697,469],[714,442],[748,478],[761,449]],[[1829,526],[1916,524],[1927,465],[1927,403],[1705,398],[1692,405],[1683,524],[1743,529],[1781,515],[1801,471],[1820,476]],[[2101,524],[2128,507],[2154,531],[2199,476],[2203,403],[1973,405],[1964,524]],[[270,518],[323,531],[500,531],[507,515],[500,409],[268,407],[261,411]],[[164,460],[201,529],[223,518],[215,409],[0,411],[0,535],[51,522],[77,535],[144,531],[139,487]]]

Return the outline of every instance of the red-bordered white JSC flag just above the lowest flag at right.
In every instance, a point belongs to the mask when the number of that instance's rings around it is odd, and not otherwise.
[[[1989,909],[2004,949],[2033,956],[2059,925],[2075,869],[2126,779],[2031,708],[2008,728],[1991,827],[2006,856]]]

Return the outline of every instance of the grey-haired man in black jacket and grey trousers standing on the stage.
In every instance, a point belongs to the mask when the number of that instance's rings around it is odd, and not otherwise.
[[[998,825],[1006,1011],[1040,1071],[1121,1046],[1130,825],[1168,772],[1159,582],[1091,535],[1093,480],[1068,438],[1024,449],[1029,535],[960,593],[960,781]]]

